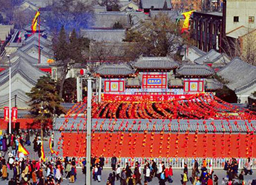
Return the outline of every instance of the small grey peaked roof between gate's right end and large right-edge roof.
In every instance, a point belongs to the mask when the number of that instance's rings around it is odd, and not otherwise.
[[[229,63],[230,59],[226,54],[218,53],[214,49],[210,50],[205,55],[200,56],[199,58],[194,60],[196,64],[223,64],[226,65]]]

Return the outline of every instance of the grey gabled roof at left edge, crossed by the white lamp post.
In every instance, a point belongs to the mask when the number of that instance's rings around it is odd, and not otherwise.
[[[36,67],[33,67],[29,61],[24,58],[18,58],[18,60],[11,65],[12,72],[11,76],[13,77],[16,73],[22,75],[30,84],[36,85],[37,80],[45,75],[41,70],[38,70]],[[9,70],[4,70],[0,73],[0,86],[9,81]]]

